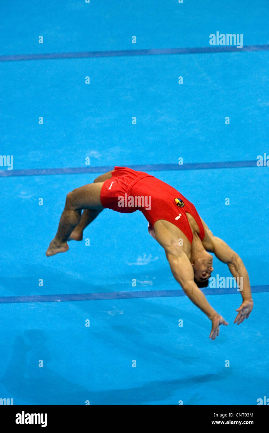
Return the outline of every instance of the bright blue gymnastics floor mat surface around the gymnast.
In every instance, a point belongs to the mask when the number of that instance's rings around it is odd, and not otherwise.
[[[19,10],[4,2],[0,55],[204,47],[218,29],[244,33],[245,45],[269,44],[262,0],[56,3],[27,0]],[[180,157],[255,161],[269,155],[268,60],[268,51],[253,51],[1,61],[0,153],[14,156],[14,170],[83,168],[87,157],[97,170],[153,168]],[[104,210],[82,242],[45,256],[66,194],[101,172],[10,172],[0,176],[0,398],[38,405],[255,405],[269,395],[269,167],[150,172],[195,204],[258,287],[253,312],[240,326],[233,324],[239,293],[215,288],[208,295],[229,322],[215,341],[210,321],[186,296],[147,297],[183,292],[139,211]],[[230,275],[214,258],[217,274]],[[135,291],[144,297],[124,299]],[[102,299],[108,293],[116,299]],[[65,294],[100,299],[63,302]],[[21,302],[38,295],[60,299]]]

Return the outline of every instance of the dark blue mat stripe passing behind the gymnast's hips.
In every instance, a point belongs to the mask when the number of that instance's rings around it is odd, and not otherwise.
[[[240,168],[257,167],[257,161],[224,161],[224,162],[191,162],[178,164],[140,164],[128,165],[129,168],[138,171],[174,171],[174,170],[201,170],[210,168]],[[260,168],[260,167],[259,167]],[[25,170],[0,170],[0,177],[9,176],[43,176],[45,174],[82,174],[104,173],[114,170],[114,165],[102,167],[70,167],[70,168],[29,168]]]

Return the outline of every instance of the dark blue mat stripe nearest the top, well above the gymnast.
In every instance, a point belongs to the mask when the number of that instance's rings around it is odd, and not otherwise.
[[[11,54],[1,55],[0,61],[18,60],[48,60],[56,58],[87,58],[87,57],[114,57],[133,55],[164,55],[164,54],[207,54],[219,52],[255,52],[268,51],[269,45],[245,45],[237,48],[237,45],[222,45],[214,47],[196,48],[149,48],[138,50],[112,50],[112,51],[82,51],[65,53],[38,53],[38,54]]]

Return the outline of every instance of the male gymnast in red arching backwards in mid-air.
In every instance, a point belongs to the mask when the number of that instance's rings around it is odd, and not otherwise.
[[[233,277],[242,278],[243,298],[234,323],[247,319],[253,308],[250,281],[242,259],[222,239],[214,236],[195,207],[170,185],[142,171],[115,167],[94,183],[76,188],[66,196],[56,236],[46,255],[68,250],[67,241],[82,240],[83,230],[105,208],[122,213],[140,210],[149,222],[149,233],[165,249],[172,274],[190,300],[212,321],[209,338],[228,323],[206,300],[199,288],[206,287],[213,271],[213,252],[228,265]],[[83,213],[82,213],[83,210]],[[238,280],[237,280],[238,281]]]

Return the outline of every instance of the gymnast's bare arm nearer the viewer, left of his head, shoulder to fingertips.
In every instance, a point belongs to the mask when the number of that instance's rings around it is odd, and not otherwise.
[[[215,340],[219,334],[219,325],[228,325],[228,323],[220,316],[214,308],[211,307],[206,300],[203,292],[197,287],[194,282],[193,267],[187,254],[182,246],[178,246],[178,242],[171,231],[165,224],[158,229],[155,228],[155,237],[159,244],[165,249],[165,255],[168,259],[172,274],[176,281],[183,288],[184,292],[197,307],[202,310],[207,317],[212,321],[212,330],[209,338]]]

